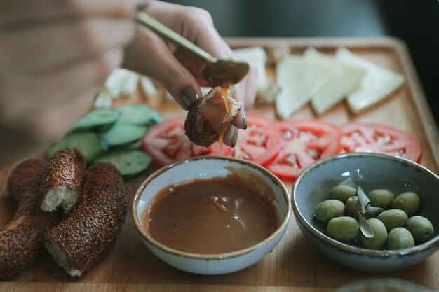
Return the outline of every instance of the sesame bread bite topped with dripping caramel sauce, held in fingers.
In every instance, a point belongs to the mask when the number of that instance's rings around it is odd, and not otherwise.
[[[233,98],[234,94],[234,86],[218,86],[196,101],[189,109],[184,122],[184,130],[189,140],[205,147],[218,139],[222,143],[224,132],[242,107],[242,104]]]

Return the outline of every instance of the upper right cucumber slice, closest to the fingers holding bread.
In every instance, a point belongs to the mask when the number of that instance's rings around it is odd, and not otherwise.
[[[146,104],[125,104],[117,109],[121,111],[121,123],[130,123],[134,125],[154,125],[161,123],[160,114],[151,106]]]

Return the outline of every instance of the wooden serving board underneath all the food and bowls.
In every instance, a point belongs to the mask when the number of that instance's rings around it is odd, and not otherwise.
[[[438,173],[439,134],[426,103],[414,67],[403,43],[395,39],[228,39],[233,48],[245,46],[290,46],[300,54],[309,46],[323,53],[334,53],[346,46],[353,53],[405,76],[405,84],[388,99],[359,115],[349,113],[346,104],[338,104],[323,116],[316,117],[304,106],[293,118],[318,118],[336,125],[357,120],[393,125],[412,132],[421,141],[421,164]],[[267,68],[273,74],[273,68]],[[161,99],[160,99],[161,100]],[[153,102],[163,118],[185,116],[176,104]],[[272,106],[252,109],[250,113],[275,119]],[[395,277],[439,289],[439,252],[426,262],[410,269],[391,273],[358,272],[332,262],[306,241],[292,216],[281,243],[256,265],[240,272],[221,276],[201,276],[176,270],[153,256],[137,235],[130,214],[130,204],[137,186],[154,170],[127,181],[128,214],[121,235],[112,251],[93,270],[80,279],[65,274],[47,254],[17,276],[0,282],[0,291],[334,291],[351,281],[370,277]],[[5,185],[12,167],[0,171],[0,225],[15,211],[6,197]],[[288,190],[292,182],[285,181]]]

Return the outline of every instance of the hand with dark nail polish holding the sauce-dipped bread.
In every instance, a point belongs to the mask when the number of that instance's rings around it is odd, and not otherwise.
[[[200,8],[148,1],[144,12],[182,35],[213,57],[234,57],[232,50],[219,36],[207,11]],[[202,62],[169,41],[161,39],[150,29],[137,27],[133,43],[126,48],[123,66],[161,81],[175,100],[188,110],[201,96],[200,86],[209,84],[201,77]],[[256,69],[250,65],[248,75],[235,85],[235,99],[243,109],[224,133],[224,143],[236,144],[238,128],[245,129],[245,109],[250,109],[256,95]]]

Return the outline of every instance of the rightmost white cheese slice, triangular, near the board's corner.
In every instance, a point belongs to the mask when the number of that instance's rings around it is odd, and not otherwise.
[[[347,103],[353,113],[381,102],[404,83],[404,76],[365,60],[346,48],[339,48],[336,59],[366,71],[360,85],[349,92]]]

